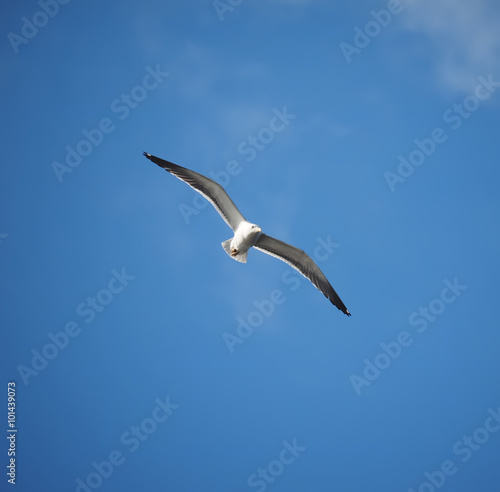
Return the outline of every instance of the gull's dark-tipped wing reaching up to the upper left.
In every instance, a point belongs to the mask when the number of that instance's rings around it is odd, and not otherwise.
[[[144,152],[144,155],[150,161],[165,169],[165,171],[168,171],[170,174],[173,174],[175,177],[187,183],[191,188],[200,193],[200,195],[203,195],[215,207],[215,210],[219,212],[220,216],[233,231],[237,229],[241,221],[245,220],[219,183],[186,169],[185,167],[178,166],[173,162],[165,161],[159,157],[148,154],[147,152]]]

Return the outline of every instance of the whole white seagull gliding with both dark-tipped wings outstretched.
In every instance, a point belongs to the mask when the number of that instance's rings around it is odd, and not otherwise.
[[[234,231],[234,237],[222,243],[222,247],[231,258],[246,263],[248,250],[252,246],[263,253],[274,256],[295,268],[309,279],[335,307],[347,316],[351,316],[349,310],[312,258],[301,249],[264,234],[257,224],[245,220],[219,183],[147,152],[144,152],[144,155],[150,161],[165,169],[165,171],[187,183],[214,206],[224,219],[224,222]]]

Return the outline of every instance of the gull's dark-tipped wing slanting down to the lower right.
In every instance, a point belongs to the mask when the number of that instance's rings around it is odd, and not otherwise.
[[[318,290],[323,292],[325,297],[330,299],[330,302],[334,306],[340,309],[344,314],[347,314],[347,316],[351,316],[351,313],[345,307],[330,282],[328,282],[328,279],[307,253],[283,241],[274,239],[267,234],[261,234],[259,236],[254,248],[288,263],[291,267],[304,275],[304,277],[308,278]]]

